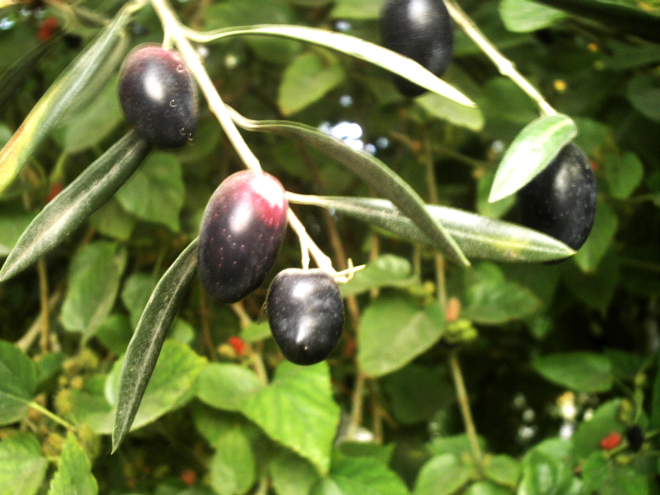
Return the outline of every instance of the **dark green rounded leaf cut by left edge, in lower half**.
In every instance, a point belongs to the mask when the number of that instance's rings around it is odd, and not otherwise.
[[[15,345],[0,341],[0,425],[25,416],[36,386],[34,362]]]

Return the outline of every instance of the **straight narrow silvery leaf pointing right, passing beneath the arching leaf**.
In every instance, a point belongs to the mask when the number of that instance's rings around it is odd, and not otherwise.
[[[390,201],[360,197],[289,194],[291,203],[334,209],[356,220],[382,228],[416,244],[428,237]],[[469,257],[492,261],[541,263],[576,253],[563,242],[504,220],[494,220],[455,208],[426,205],[431,216],[446,226]]]

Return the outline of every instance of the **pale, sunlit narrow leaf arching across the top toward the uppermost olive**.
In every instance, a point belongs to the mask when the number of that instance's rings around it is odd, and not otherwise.
[[[328,31],[325,29],[308,28],[305,26],[287,26],[283,24],[261,24],[258,26],[240,26],[225,29],[218,29],[205,34],[189,31],[189,37],[193,41],[209,42],[220,40],[228,36],[238,36],[249,34],[250,36],[278,36],[290,40],[300,40],[312,43],[324,48],[333,49],[364,60],[387,71],[393,72],[409,81],[418,84],[434,93],[442,94],[450,100],[454,100],[461,105],[476,108],[475,102],[470,100],[465,94],[442,81],[418,64],[413,59],[383,48],[380,45],[350,36],[339,32]]]

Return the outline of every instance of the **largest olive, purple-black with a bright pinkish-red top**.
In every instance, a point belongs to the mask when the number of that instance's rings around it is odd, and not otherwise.
[[[266,279],[286,232],[284,187],[270,174],[236,172],[215,190],[199,230],[199,275],[217,302],[238,302]]]

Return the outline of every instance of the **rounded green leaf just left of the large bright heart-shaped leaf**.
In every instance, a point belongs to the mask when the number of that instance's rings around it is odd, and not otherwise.
[[[252,370],[237,364],[211,363],[197,378],[197,397],[225,411],[241,411],[263,385]]]

